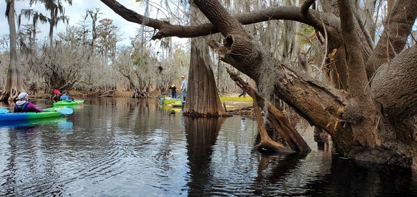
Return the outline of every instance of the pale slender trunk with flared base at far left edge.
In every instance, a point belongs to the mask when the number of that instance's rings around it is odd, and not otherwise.
[[[10,65],[7,71],[6,90],[1,96],[1,101],[13,101],[19,92],[24,91],[22,77],[18,69],[17,49],[16,49],[16,25],[15,25],[15,1],[7,1],[6,9],[9,31],[10,31]]]

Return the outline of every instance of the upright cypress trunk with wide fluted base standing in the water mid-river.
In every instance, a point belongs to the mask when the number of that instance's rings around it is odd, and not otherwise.
[[[199,18],[198,10],[194,6],[191,6],[190,9],[191,24],[195,24]],[[187,89],[184,115],[190,117],[223,117],[228,115],[220,103],[213,70],[210,67],[208,45],[206,40],[201,37],[191,39]]]

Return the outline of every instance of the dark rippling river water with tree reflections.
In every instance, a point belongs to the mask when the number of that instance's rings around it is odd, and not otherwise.
[[[0,196],[417,195],[411,171],[337,159],[300,130],[308,155],[261,155],[250,118],[89,98],[65,118],[0,125]]]

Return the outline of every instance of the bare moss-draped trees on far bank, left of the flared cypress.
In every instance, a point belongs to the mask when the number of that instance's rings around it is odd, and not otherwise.
[[[38,22],[51,25],[67,22],[63,16],[64,4],[57,2],[30,1],[31,5],[42,3],[46,13],[27,9],[19,15],[19,22],[31,19],[19,29],[17,43],[25,84],[35,84],[46,92],[60,87],[97,90],[117,86],[165,91],[170,84],[181,83],[179,76],[188,74],[187,44],[173,44],[171,38],[151,43],[152,32],[143,29],[138,31],[132,46],[120,47],[117,45],[121,37],[119,27],[111,19],[100,19],[99,10],[87,10],[78,25],[67,26],[66,31],[55,37],[51,37],[53,31],[50,31],[49,44],[40,43],[44,39],[35,37]],[[0,69],[7,70],[3,64]],[[3,76],[6,74],[0,79]]]

